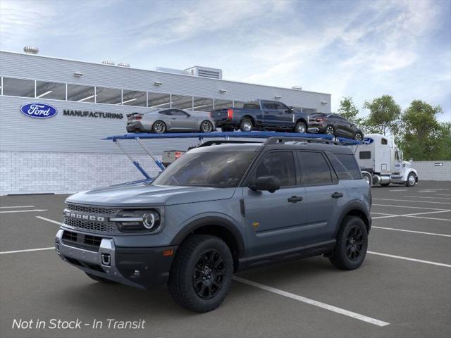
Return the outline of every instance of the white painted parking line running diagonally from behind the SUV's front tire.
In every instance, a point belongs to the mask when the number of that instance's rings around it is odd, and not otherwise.
[[[292,294],[290,292],[285,292],[283,290],[280,289],[276,289],[274,287],[268,287],[267,285],[264,284],[260,284],[260,283],[256,283],[256,282],[252,282],[251,280],[245,280],[243,278],[240,277],[233,277],[234,280],[236,280],[237,282],[241,282],[247,285],[250,285],[252,287],[257,287],[259,289],[268,291],[268,292],[273,292],[274,294],[279,294],[280,296],[285,296],[291,299],[295,299],[296,301],[302,301],[303,303],[307,303],[313,306],[318,306],[319,308],[324,308],[328,311],[333,311],[335,313],[340,313],[340,315],[347,315],[348,317],[352,317],[358,320],[362,320],[366,323],[370,323],[373,325],[377,325],[377,326],[387,326],[390,325],[390,323],[387,322],[383,322],[382,320],[377,320],[371,317],[367,317],[366,315],[361,315],[359,313],[355,313],[352,311],[347,311],[343,308],[338,308],[336,306],[332,306],[326,303],[321,303],[321,301],[314,301],[313,299],[309,299],[303,296],[298,296],[297,294]]]

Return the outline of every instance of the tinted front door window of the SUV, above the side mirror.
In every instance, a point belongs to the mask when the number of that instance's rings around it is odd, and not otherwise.
[[[278,151],[266,155],[257,166],[254,179],[261,176],[276,176],[280,187],[296,185],[295,161],[291,152]]]

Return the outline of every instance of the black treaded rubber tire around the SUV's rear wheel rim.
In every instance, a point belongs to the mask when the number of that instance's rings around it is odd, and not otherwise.
[[[359,229],[359,233],[362,237],[362,247],[359,255],[352,260],[350,258],[350,231],[354,230],[356,227]],[[368,249],[368,231],[366,230],[364,221],[357,216],[346,216],[342,221],[340,230],[338,230],[337,244],[335,245],[332,255],[329,257],[329,261],[336,268],[342,270],[354,270],[362,265],[366,256],[366,249]]]

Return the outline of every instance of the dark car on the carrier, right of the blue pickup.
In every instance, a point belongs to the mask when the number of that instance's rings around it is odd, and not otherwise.
[[[355,123],[338,114],[312,113],[309,115],[309,127],[318,128],[320,134],[335,135],[357,139],[364,139],[364,132]]]

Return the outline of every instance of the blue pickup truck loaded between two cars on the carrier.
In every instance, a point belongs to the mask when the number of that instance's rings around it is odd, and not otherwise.
[[[275,130],[306,133],[309,115],[279,101],[255,100],[242,108],[224,108],[211,112],[216,127],[223,132]],[[317,128],[314,128],[317,131]],[[312,130],[313,131],[313,130]]]

